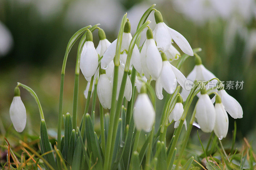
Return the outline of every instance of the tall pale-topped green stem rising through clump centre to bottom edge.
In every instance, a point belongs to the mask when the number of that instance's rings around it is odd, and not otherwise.
[[[114,129],[114,118],[115,118],[115,108],[116,108],[116,87],[118,81],[118,66],[119,66],[119,57],[121,51],[121,44],[122,44],[122,37],[124,32],[124,24],[127,20],[126,18],[127,13],[124,14],[124,17],[121,22],[120,30],[117,36],[117,43],[116,43],[116,56],[114,57],[114,80],[113,80],[113,90],[112,90],[112,98],[111,98],[111,109],[109,115],[109,129],[108,129],[108,138],[107,138],[107,149],[106,149],[106,156],[104,160],[104,170],[110,169],[111,161],[112,161],[112,154],[111,153],[111,146],[114,145],[115,142],[112,142],[112,135]]]

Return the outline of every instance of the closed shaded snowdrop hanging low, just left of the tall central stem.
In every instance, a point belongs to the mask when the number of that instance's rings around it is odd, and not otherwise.
[[[100,69],[101,74],[97,85],[97,94],[100,100],[100,104],[105,109],[111,108],[111,97],[112,97],[112,87],[111,83],[106,75],[106,71]]]

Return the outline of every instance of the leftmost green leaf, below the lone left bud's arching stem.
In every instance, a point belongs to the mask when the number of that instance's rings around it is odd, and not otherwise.
[[[52,149],[51,149],[51,145],[50,145],[50,142],[49,142],[49,138],[48,138],[48,134],[47,134],[47,128],[46,128],[46,124],[44,122],[44,119],[41,120],[41,124],[40,124],[40,136],[41,136],[43,152],[45,153],[45,152],[51,151]],[[42,150],[41,150],[41,152],[42,152]],[[53,156],[53,152],[45,155],[45,158],[54,169],[57,169],[55,159],[54,159],[54,156]]]

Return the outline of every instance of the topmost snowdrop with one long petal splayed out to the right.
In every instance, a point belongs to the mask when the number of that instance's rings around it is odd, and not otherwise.
[[[157,48],[160,48],[165,52],[170,48],[173,40],[184,53],[191,56],[194,55],[186,38],[163,22],[163,17],[160,11],[155,11],[155,20],[156,28],[154,29],[153,36]]]

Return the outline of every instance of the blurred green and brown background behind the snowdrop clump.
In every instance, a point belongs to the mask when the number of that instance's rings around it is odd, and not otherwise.
[[[256,121],[254,0],[0,0],[0,136],[20,137],[9,116],[16,82],[30,86],[37,93],[47,126],[56,130],[60,72],[69,38],[84,26],[100,23],[112,42],[125,12],[134,33],[141,15],[154,3],[168,26],[184,35],[192,48],[202,48],[198,54],[208,70],[222,81],[244,81],[242,90],[227,92],[236,98],[244,111],[243,118],[236,120],[237,137],[253,140]],[[149,19],[154,28],[153,13]],[[97,47],[97,31],[93,35]],[[68,57],[63,113],[72,112],[76,51],[77,43]],[[194,59],[190,57],[181,71],[187,76],[193,67]],[[78,120],[84,112],[86,83],[80,74]],[[38,135],[37,105],[24,89],[21,89],[21,99],[28,117],[23,133]],[[157,102],[158,114],[162,104],[163,101]],[[99,127],[98,115],[96,109],[96,127]],[[233,128],[234,119],[229,116],[228,137]],[[172,129],[173,125],[169,128],[170,134]]]

